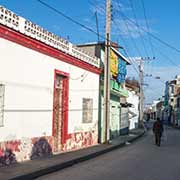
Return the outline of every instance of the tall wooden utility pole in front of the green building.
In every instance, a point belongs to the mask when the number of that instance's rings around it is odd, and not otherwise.
[[[110,31],[111,31],[111,1],[106,0],[106,34],[104,53],[104,143],[109,142],[110,124]]]

